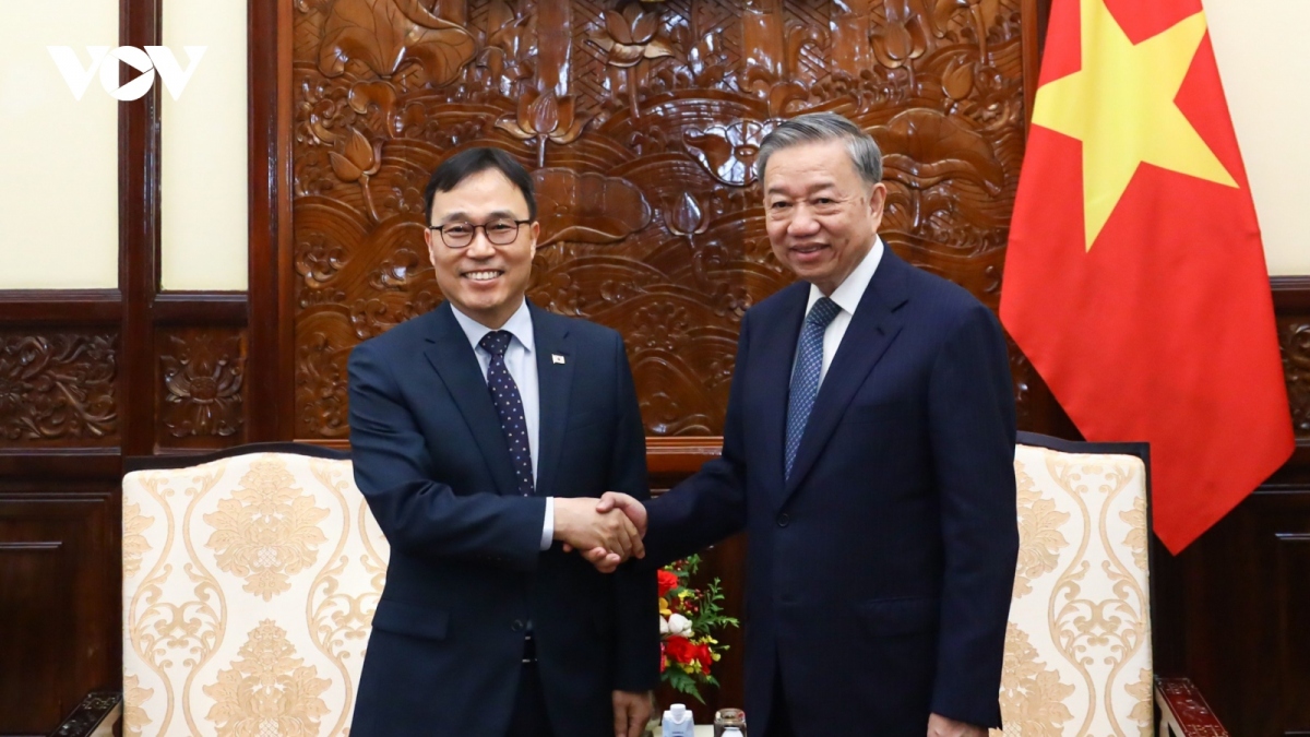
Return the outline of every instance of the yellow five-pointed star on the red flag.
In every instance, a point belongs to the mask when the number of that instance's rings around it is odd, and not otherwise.
[[[1087,250],[1138,164],[1237,186],[1174,104],[1205,37],[1205,13],[1133,45],[1104,0],[1082,0],[1082,70],[1038,89],[1032,122],[1082,140]]]

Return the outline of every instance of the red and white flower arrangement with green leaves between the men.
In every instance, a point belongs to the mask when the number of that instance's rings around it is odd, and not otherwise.
[[[727,650],[713,632],[736,627],[738,620],[723,615],[718,578],[703,589],[690,586],[690,577],[700,565],[701,556],[693,555],[658,573],[660,681],[703,704],[700,687],[719,685],[710,669]]]

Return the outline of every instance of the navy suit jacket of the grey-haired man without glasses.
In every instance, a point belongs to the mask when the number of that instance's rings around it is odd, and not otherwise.
[[[810,285],[741,320],[723,455],[647,505],[647,563],[748,531],[745,712],[778,665],[800,737],[998,727],[1018,555],[1005,338],[889,249],[820,387],[790,479],[787,391]],[[854,720],[854,721],[852,721]]]

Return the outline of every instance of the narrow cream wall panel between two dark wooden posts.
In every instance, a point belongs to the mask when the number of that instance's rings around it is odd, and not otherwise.
[[[164,0],[162,14],[164,45],[182,68],[189,63],[185,46],[206,51],[179,100],[160,93],[161,285],[245,290],[246,4]]]

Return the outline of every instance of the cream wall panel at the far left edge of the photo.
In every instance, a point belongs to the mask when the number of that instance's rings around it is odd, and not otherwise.
[[[118,286],[118,104],[47,46],[118,46],[117,0],[0,0],[0,289]]]

